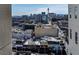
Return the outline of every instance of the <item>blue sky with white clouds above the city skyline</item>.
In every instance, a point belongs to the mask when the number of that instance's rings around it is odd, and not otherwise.
[[[67,4],[13,4],[12,16],[47,13],[47,8],[50,13],[68,14]]]

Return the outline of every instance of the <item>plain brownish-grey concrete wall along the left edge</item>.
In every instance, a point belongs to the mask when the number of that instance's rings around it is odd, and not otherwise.
[[[11,5],[0,4],[0,54],[11,53]]]

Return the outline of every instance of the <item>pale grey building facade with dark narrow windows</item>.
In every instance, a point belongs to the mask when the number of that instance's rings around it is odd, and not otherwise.
[[[79,54],[79,4],[68,5],[67,54]]]

